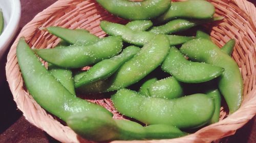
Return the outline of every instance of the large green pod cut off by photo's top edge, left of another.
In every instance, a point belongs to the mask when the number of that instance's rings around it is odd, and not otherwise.
[[[145,20],[163,14],[170,7],[169,0],[146,0],[132,2],[126,0],[96,0],[110,13],[130,20]]]

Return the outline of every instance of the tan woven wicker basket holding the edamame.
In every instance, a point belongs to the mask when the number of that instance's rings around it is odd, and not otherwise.
[[[144,141],[113,141],[113,142],[210,142],[228,135],[248,122],[256,113],[256,51],[255,25],[256,9],[253,4],[245,0],[210,0],[216,7],[216,14],[225,16],[218,24],[211,25],[209,31],[212,40],[223,46],[230,38],[236,39],[236,47],[232,57],[241,68],[244,80],[244,99],[242,106],[232,115],[227,116],[225,109],[221,109],[220,122],[209,125],[184,137],[162,140]],[[26,119],[45,130],[52,137],[61,142],[91,142],[78,137],[69,127],[55,120],[42,109],[24,88],[22,75],[16,59],[16,45],[18,39],[24,36],[29,45],[35,48],[51,48],[59,39],[48,32],[40,31],[39,27],[62,26],[67,28],[85,28],[92,34],[104,37],[105,33],[99,27],[101,20],[118,23],[127,21],[112,16],[103,10],[94,0],[59,0],[23,27],[13,43],[7,58],[6,75],[17,107],[23,111]],[[93,100],[115,113],[110,99]]]

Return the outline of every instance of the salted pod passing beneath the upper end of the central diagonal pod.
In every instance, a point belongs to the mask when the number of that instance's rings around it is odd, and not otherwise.
[[[132,31],[125,25],[112,23],[109,21],[101,21],[100,27],[105,33],[113,36],[122,36],[123,41],[137,46],[143,46],[147,42],[150,42],[154,36],[156,36],[156,34],[150,32]],[[167,35],[167,37],[170,45],[182,44],[194,38],[176,35]]]

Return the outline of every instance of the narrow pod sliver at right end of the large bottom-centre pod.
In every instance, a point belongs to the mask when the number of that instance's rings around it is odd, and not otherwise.
[[[212,118],[209,121],[209,124],[214,124],[214,123],[219,122],[219,120],[220,120],[221,93],[219,92],[218,89],[216,89],[216,90],[207,91],[206,95],[208,95],[214,99],[215,111],[214,111],[214,115],[212,116]]]

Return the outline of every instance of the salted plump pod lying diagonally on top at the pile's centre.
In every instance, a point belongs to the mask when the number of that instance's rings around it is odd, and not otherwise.
[[[120,67],[111,79],[112,85],[108,91],[125,88],[138,82],[156,69],[168,52],[168,38],[165,35],[157,35],[151,42],[145,44],[131,60]]]

